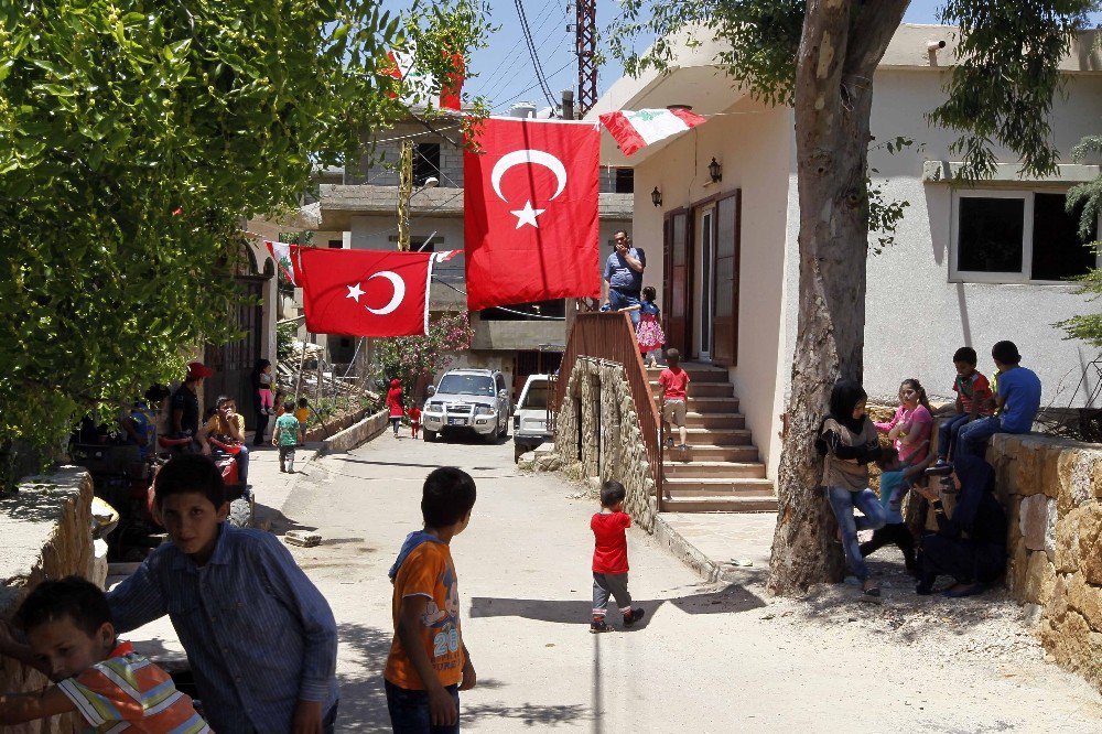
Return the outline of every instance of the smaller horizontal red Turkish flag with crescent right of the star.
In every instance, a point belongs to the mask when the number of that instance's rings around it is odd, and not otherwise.
[[[429,331],[433,252],[298,248],[306,331],[413,336]]]

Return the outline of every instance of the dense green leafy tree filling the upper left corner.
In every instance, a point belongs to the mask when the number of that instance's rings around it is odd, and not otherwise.
[[[484,12],[0,7],[0,450],[56,445],[82,412],[179,379],[191,346],[235,337],[241,217],[296,206],[315,164],[356,160],[365,130],[408,115],[391,46],[414,39],[435,73],[482,43]]]

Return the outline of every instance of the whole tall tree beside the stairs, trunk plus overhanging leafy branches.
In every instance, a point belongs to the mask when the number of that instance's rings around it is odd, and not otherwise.
[[[839,578],[834,520],[815,487],[813,450],[831,385],[862,377],[868,250],[869,111],[873,75],[907,0],[626,0],[611,36],[629,73],[663,69],[670,39],[726,42],[716,62],[733,87],[791,105],[800,201],[800,283],[791,396],[778,479],[779,511],[769,586],[790,593]],[[963,175],[994,170],[994,145],[1022,156],[1026,174],[1051,173],[1048,114],[1058,62],[1087,23],[1088,0],[947,0],[959,26],[958,63],[931,123],[959,132]],[[646,9],[646,10],[645,10]],[[637,54],[640,33],[659,41]]]

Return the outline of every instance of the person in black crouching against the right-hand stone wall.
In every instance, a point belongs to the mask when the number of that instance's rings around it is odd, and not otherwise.
[[[929,594],[938,576],[947,575],[957,583],[944,595],[957,598],[983,593],[1006,569],[1006,512],[995,499],[995,471],[982,458],[958,456],[949,479],[958,493],[952,516],[936,488],[916,487],[930,500],[938,531],[922,539],[922,578],[915,591]]]

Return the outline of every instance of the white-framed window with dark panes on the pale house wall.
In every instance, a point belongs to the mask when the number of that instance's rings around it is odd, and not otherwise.
[[[950,278],[1051,283],[1096,267],[1096,255],[1079,236],[1079,216],[1067,212],[1066,202],[1052,191],[954,191]]]

